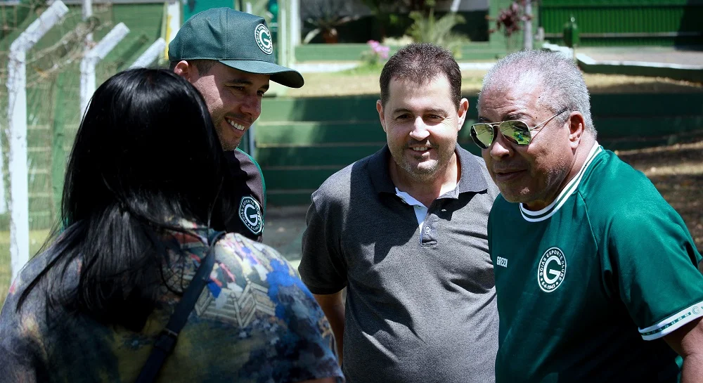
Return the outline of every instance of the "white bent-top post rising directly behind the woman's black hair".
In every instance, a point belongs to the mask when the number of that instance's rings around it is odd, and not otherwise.
[[[129,33],[129,28],[124,22],[115,25],[114,28],[103,39],[93,47],[81,60],[81,116],[85,115],[88,109],[90,98],[95,92],[95,67],[105,58],[105,56],[115,48],[120,40]]]

